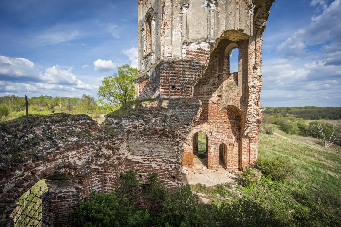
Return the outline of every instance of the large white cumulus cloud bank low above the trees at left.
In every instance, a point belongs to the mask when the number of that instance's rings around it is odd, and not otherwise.
[[[41,72],[34,63],[25,58],[0,56],[0,96],[23,94],[58,94],[65,92],[81,96],[85,92],[95,91],[97,85],[86,84],[77,79],[72,67],[59,65]]]

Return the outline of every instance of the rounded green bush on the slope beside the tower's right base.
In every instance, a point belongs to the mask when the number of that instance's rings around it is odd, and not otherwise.
[[[292,165],[282,157],[273,159],[258,158],[257,167],[271,180],[283,180],[294,172]]]

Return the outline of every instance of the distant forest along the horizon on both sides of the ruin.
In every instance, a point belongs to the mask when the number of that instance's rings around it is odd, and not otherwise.
[[[94,118],[101,114],[114,111],[111,105],[99,105],[97,100],[89,95],[81,98],[39,96],[28,99],[29,114],[52,114],[65,112],[71,114],[84,113]],[[306,120],[341,119],[341,107],[266,107],[265,115],[277,117],[296,117]],[[0,97],[0,120],[10,120],[25,115],[25,97]]]

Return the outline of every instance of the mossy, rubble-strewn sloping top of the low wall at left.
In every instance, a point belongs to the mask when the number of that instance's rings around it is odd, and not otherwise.
[[[86,114],[66,113],[28,115],[29,131],[19,147],[19,141],[26,130],[26,116],[0,122],[0,164],[21,162],[24,157],[41,154],[51,146],[58,147],[73,138],[78,140],[90,137],[91,133],[85,129],[66,127],[70,121],[80,119],[90,117]]]

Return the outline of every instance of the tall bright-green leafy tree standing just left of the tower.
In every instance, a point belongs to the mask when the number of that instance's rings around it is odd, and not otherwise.
[[[135,99],[134,78],[137,69],[128,64],[117,67],[117,73],[113,76],[106,76],[102,80],[102,85],[98,88],[97,95],[101,104],[110,103],[114,106],[124,105]]]

